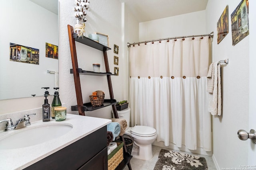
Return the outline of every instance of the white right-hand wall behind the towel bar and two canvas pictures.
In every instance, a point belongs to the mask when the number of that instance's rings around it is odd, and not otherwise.
[[[239,129],[248,129],[249,36],[232,46],[230,15],[241,0],[208,0],[206,31],[214,31],[213,61],[229,58],[222,67],[222,116],[213,117],[213,158],[218,168],[247,165],[247,142],[237,137]],[[229,33],[217,44],[217,21],[228,5]],[[249,18],[251,16],[249,13]],[[239,129],[238,129],[239,128]]]

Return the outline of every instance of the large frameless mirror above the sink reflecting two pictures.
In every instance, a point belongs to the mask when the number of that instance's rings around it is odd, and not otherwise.
[[[54,94],[58,0],[0,1],[0,14],[0,100]]]

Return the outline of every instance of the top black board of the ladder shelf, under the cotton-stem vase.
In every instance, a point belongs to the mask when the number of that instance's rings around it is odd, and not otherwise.
[[[90,38],[87,38],[87,37],[84,37],[84,36],[78,38],[76,33],[73,34],[73,37],[74,37],[75,41],[77,41],[79,43],[82,43],[82,44],[85,44],[85,45],[88,45],[88,46],[90,46],[94,49],[98,49],[100,51],[111,50],[109,47],[107,47],[105,45],[102,45],[102,44],[100,44],[100,43],[98,43],[98,42],[96,42],[96,41],[94,41]]]

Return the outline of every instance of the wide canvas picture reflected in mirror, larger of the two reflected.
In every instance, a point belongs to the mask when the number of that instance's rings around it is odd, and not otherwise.
[[[10,43],[10,61],[39,65],[39,49]]]

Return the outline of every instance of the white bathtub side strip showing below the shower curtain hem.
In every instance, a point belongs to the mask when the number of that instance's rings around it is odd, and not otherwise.
[[[196,154],[212,156],[212,151],[205,151],[204,149],[202,149],[200,147],[198,147],[198,149],[196,149],[196,150],[190,150],[190,149],[187,149],[185,145],[182,145],[182,147],[176,147],[173,143],[169,143],[169,146],[165,146],[164,142],[162,142],[162,141],[160,141],[160,142],[155,141],[152,145],[156,145],[158,147],[164,147],[164,148],[168,148],[168,149],[181,150],[184,152],[191,152],[191,153],[196,153]]]

